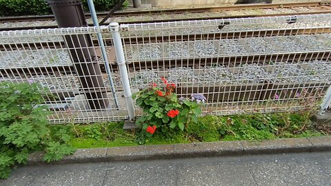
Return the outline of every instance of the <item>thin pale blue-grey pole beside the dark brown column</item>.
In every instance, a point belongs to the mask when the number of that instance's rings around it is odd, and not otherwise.
[[[99,28],[99,21],[97,19],[97,13],[95,12],[93,0],[88,0],[88,8],[90,8],[91,17],[92,17],[92,20],[93,20],[93,25],[96,26],[97,28]],[[108,61],[108,57],[107,57],[106,47],[103,43],[102,35],[99,32],[97,33],[97,38],[98,38],[100,49],[101,49],[101,56],[102,56],[103,61],[105,62],[110,87],[112,88],[112,95],[114,96],[115,106],[118,110],[119,109],[119,101],[118,101],[117,96],[116,96],[114,81],[112,81],[112,71],[110,70],[110,67],[109,67],[109,61]]]

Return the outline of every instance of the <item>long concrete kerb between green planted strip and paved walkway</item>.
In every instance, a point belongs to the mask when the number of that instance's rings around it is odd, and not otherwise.
[[[245,154],[279,154],[291,152],[331,151],[331,136],[312,138],[280,138],[268,141],[220,141],[210,143],[183,143],[174,145],[143,145],[77,149],[66,156],[63,163],[90,163],[113,161],[143,161],[151,159],[194,158],[210,156],[241,156]],[[28,165],[45,164],[42,152],[30,155]]]

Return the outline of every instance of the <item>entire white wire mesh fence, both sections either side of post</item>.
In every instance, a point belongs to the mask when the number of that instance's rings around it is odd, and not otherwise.
[[[121,25],[132,92],[165,77],[176,83],[179,96],[203,94],[204,114],[302,109],[330,87],[330,18]],[[97,33],[103,35],[108,61],[101,57]],[[57,96],[46,98],[52,123],[128,118],[115,59],[108,26],[0,32],[0,81],[48,87]]]

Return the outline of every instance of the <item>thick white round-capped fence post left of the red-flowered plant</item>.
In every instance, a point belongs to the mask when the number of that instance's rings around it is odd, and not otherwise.
[[[121,74],[121,81],[124,89],[124,97],[126,99],[126,107],[130,120],[134,120],[134,104],[130,88],[130,81],[128,70],[126,68],[126,59],[124,58],[123,45],[121,41],[121,34],[119,34],[119,23],[110,23],[110,31],[112,32],[112,40],[116,53],[117,65],[119,65],[119,73]]]

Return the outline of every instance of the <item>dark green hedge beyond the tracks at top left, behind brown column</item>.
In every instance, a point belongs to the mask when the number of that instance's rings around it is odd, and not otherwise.
[[[94,0],[97,12],[112,10],[120,0]],[[88,11],[88,1],[82,0],[84,10]],[[123,3],[123,7],[128,3]],[[45,0],[0,0],[0,16],[45,15],[52,14]]]

